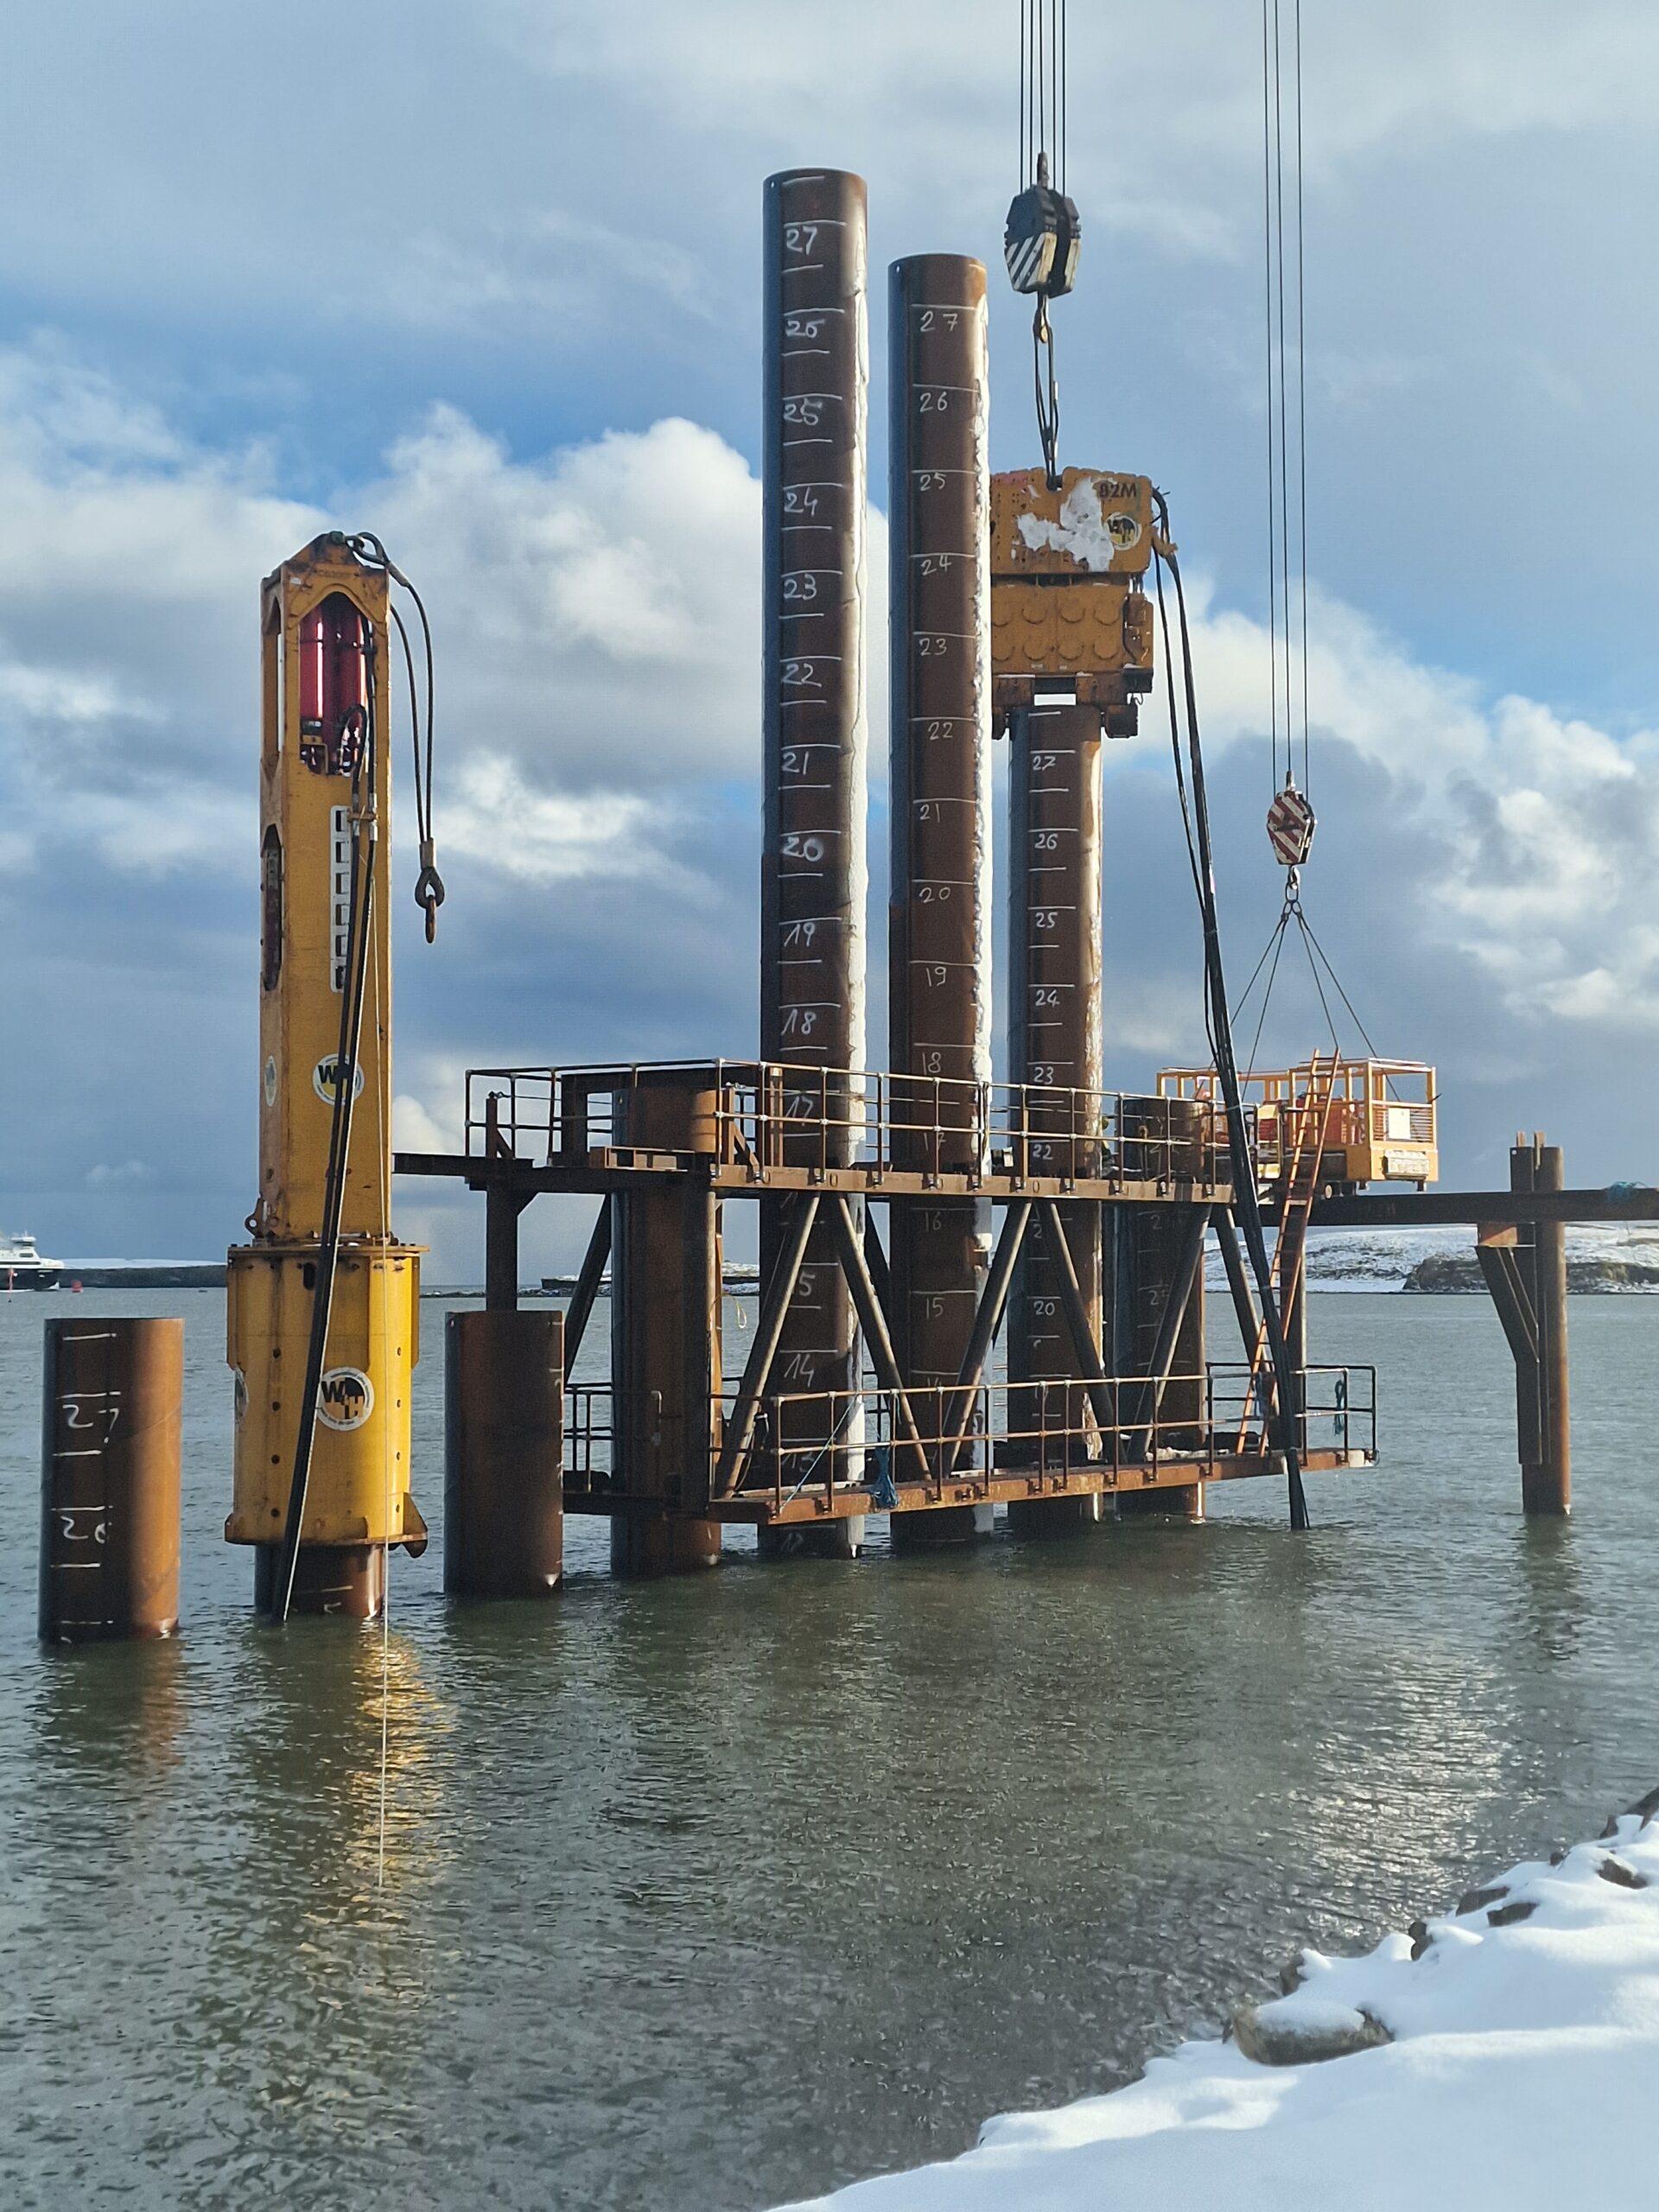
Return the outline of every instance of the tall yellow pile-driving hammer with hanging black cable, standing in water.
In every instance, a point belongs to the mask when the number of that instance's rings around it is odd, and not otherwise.
[[[392,580],[378,540],[330,533],[261,591],[259,1199],[230,1252],[226,1537],[257,1546],[254,1597],[276,1619],[374,1619],[389,1546],[427,1544],[409,1495],[420,1248],[389,1225]],[[427,681],[427,748],[429,717]],[[418,779],[416,728],[420,805]],[[420,827],[431,927],[442,885]]]

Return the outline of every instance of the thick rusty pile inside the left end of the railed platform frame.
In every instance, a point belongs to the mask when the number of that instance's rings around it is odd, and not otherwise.
[[[688,1146],[710,1093],[653,1086],[628,1095],[637,1144]],[[670,1575],[719,1559],[708,1500],[721,1391],[719,1201],[706,1177],[639,1183],[613,1197],[613,1467],[626,1489],[664,1500],[648,1520],[611,1526],[619,1575]]]

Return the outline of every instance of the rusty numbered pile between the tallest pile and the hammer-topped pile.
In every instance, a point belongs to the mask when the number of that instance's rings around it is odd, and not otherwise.
[[[984,268],[889,270],[894,1164],[984,1166],[969,1086],[991,1079],[991,661]],[[914,1075],[914,1084],[902,1084]],[[914,1128],[905,1128],[905,1124]],[[989,1208],[889,1210],[894,1338],[909,1383],[962,1369]]]

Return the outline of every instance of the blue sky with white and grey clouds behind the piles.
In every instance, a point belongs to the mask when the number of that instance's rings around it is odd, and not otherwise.
[[[1015,24],[1015,0],[22,0],[0,73],[0,1228],[69,1259],[241,1234],[259,577],[325,526],[380,533],[438,646],[449,902],[429,949],[405,790],[403,1141],[456,1141],[469,1066],[754,1051],[761,181],[860,170],[876,272],[991,263],[993,465],[1029,467],[998,268]],[[1303,0],[1303,55],[1305,909],[1378,1048],[1438,1064],[1449,1181],[1506,1181],[1520,1126],[1566,1146],[1568,1181],[1659,1181],[1659,13]],[[1077,0],[1068,168],[1062,458],[1170,495],[1243,978],[1283,889],[1254,0]],[[878,573],[880,283],[872,361]],[[1106,765],[1124,1088],[1201,1051],[1146,732]],[[872,692],[872,854],[883,761]],[[880,872],[872,898],[880,969]],[[872,1064],[883,1020],[876,993]],[[1263,1048],[1325,1035],[1287,964]],[[398,1225],[434,1279],[478,1276],[478,1201],[403,1183]],[[568,1265],[584,1228],[533,1208],[526,1270]]]

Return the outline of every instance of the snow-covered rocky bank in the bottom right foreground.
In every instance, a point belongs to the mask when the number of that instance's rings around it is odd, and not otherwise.
[[[836,2212],[1588,2212],[1659,2203],[1659,1790],[1130,2088],[987,2121]],[[1252,2059],[1245,2048],[1261,2053]],[[1325,2057],[1325,2051],[1347,2055]],[[805,2212],[805,2208],[799,2208]]]

